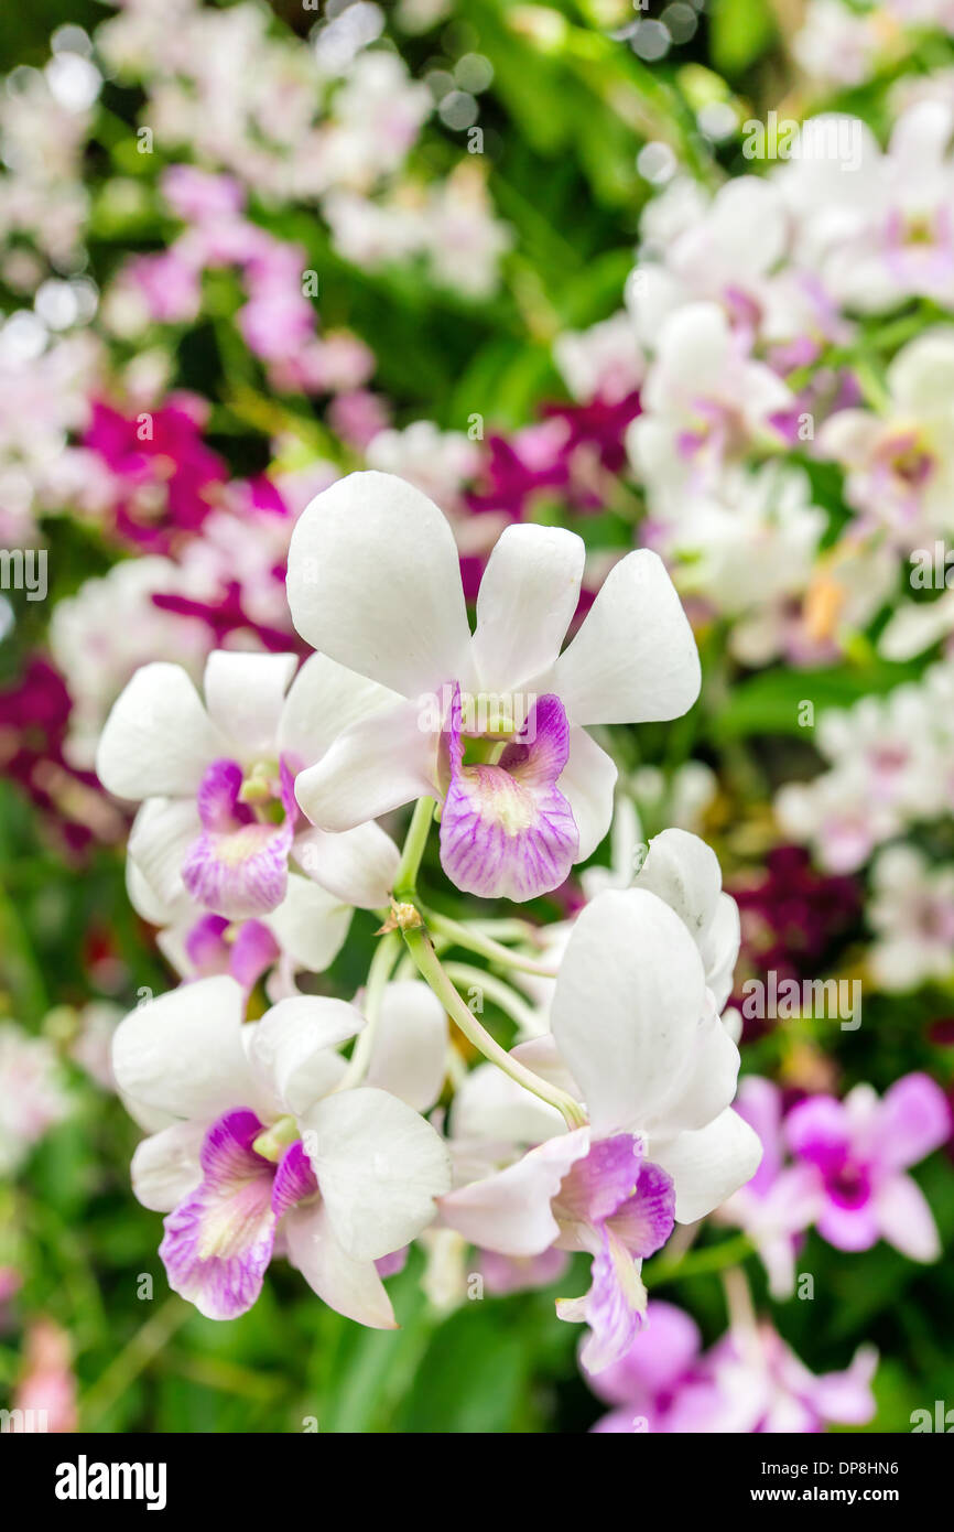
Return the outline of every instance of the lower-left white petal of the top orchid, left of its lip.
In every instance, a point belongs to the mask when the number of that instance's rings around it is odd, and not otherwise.
[[[296,777],[302,810],[322,830],[352,830],[435,791],[438,735],[417,702],[357,723]]]

